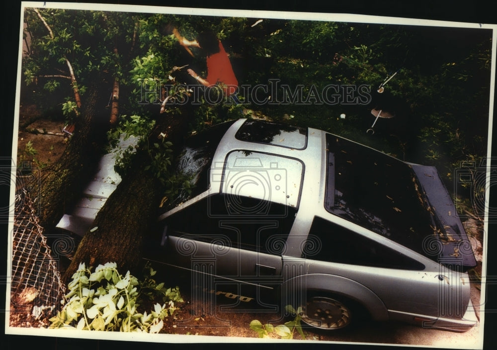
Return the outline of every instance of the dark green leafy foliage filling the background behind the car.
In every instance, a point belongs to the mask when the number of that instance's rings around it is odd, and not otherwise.
[[[31,44],[23,61],[25,84],[42,108],[62,106],[68,119],[76,112],[71,83],[54,78],[67,75],[65,58],[73,64],[82,93],[90,82],[119,79],[119,130],[134,123],[133,135],[143,139],[156,118],[180,112],[169,103],[166,114],[158,115],[166,96],[177,102],[188,95],[184,87],[191,81],[185,72],[171,73],[174,67],[195,68],[202,76],[207,72],[201,50],[192,48],[195,57],[187,55],[172,27],[190,40],[209,29],[223,41],[243,85],[278,80],[291,90],[301,86],[304,97],[330,85],[341,90],[331,104],[274,103],[269,92],[262,96],[268,103],[212,104],[201,98],[188,112],[196,116],[191,131],[247,116],[247,110],[276,121],[291,115],[297,126],[320,128],[406,161],[436,166],[449,188],[454,180],[449,174],[487,153],[492,37],[484,30],[270,18],[254,24],[243,17],[62,9],[40,13],[54,38],[36,13],[26,10],[24,34]],[[393,73],[385,92],[377,93]],[[371,100],[347,103],[343,89],[360,85],[368,87]],[[374,107],[391,109],[395,117],[379,120],[375,134],[369,135]],[[341,114],[346,118],[339,118]],[[142,124],[127,116],[139,116]],[[111,136],[120,137],[118,132]],[[149,169],[164,178],[164,166],[171,161],[167,150],[173,146],[145,145],[155,162]],[[156,158],[161,152],[164,157]],[[122,168],[132,162],[131,157],[122,159]]]

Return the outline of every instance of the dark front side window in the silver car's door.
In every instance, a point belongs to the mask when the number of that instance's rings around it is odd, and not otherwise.
[[[230,209],[226,194],[214,194],[178,211],[166,219],[167,235],[196,241],[280,255],[295,220],[296,208],[278,203],[265,203],[263,214],[252,211],[241,215]],[[238,197],[248,208],[261,200]],[[257,203],[255,203],[256,201]]]

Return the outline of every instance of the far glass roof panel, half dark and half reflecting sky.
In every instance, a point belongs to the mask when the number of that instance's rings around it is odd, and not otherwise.
[[[248,119],[237,131],[240,141],[262,143],[303,150],[307,146],[307,128]]]

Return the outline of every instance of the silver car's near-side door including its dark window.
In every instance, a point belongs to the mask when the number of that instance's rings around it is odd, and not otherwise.
[[[221,215],[229,200],[214,194],[168,217],[159,260],[185,272],[202,289],[257,299],[281,283],[281,255],[297,209],[269,203],[262,218]],[[258,201],[243,200],[246,205]]]

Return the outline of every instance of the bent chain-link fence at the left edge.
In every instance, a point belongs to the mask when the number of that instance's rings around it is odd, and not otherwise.
[[[12,233],[10,311],[41,319],[59,309],[65,285],[36,214],[35,200],[19,191]]]

